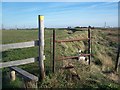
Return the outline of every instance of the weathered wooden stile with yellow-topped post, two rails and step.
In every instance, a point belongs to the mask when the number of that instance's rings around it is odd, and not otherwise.
[[[3,47],[2,51],[6,51],[9,49],[16,49],[16,48],[28,48],[28,47],[34,47],[39,45],[39,80],[42,81],[45,77],[45,70],[44,70],[44,16],[38,15],[38,25],[39,25],[39,33],[38,38],[39,41],[29,41],[29,42],[21,42],[21,43],[14,43],[14,44],[4,44],[0,45]],[[16,61],[9,61],[9,62],[1,62],[0,68],[9,67],[11,71],[11,79],[12,81],[15,80],[15,72],[19,73],[25,81],[25,87],[26,88],[37,88],[37,81],[38,77],[26,72],[25,70],[22,70],[18,67],[18,65],[24,65],[35,62],[35,58],[28,58],[23,60],[16,60]]]

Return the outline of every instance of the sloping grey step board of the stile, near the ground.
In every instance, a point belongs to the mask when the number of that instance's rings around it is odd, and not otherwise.
[[[17,73],[19,73],[20,75],[22,75],[23,78],[25,79],[28,79],[28,80],[31,80],[31,81],[38,81],[38,77],[33,75],[33,74],[30,74],[28,73],[27,71],[21,69],[21,68],[18,68],[18,67],[10,67],[10,69],[16,71]]]

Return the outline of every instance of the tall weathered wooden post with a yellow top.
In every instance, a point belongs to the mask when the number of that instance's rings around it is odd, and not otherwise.
[[[42,81],[45,77],[44,70],[44,16],[38,16],[38,25],[39,25],[39,69],[40,76],[39,80]]]

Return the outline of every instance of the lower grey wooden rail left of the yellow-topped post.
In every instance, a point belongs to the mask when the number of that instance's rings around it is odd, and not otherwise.
[[[35,62],[35,58],[28,58],[28,59],[23,59],[23,60],[2,62],[2,63],[0,63],[0,68],[24,65],[24,64],[34,63],[34,62]]]

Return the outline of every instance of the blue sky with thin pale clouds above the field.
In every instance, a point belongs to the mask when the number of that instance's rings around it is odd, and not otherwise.
[[[117,2],[3,2],[2,23],[6,28],[38,27],[38,15],[45,27],[118,26]]]

